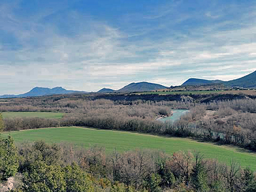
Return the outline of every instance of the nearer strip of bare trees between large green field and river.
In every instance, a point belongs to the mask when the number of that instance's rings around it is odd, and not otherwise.
[[[163,123],[121,114],[69,114],[62,119],[13,118],[5,119],[5,131],[37,129],[58,126],[90,126],[99,129],[135,131],[176,137],[193,137],[207,141],[218,141],[256,150],[255,116],[251,114],[233,115],[226,122],[215,119],[194,121],[204,110],[191,110],[174,123]],[[251,116],[250,116],[251,115]],[[237,126],[235,125],[237,124]],[[239,125],[238,125],[239,124]]]

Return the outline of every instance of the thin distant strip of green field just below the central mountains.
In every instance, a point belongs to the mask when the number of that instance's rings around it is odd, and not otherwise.
[[[158,95],[174,95],[174,94],[179,94],[179,95],[189,95],[189,94],[213,94],[213,93],[224,93],[225,91],[170,91],[170,92],[164,92],[164,91],[158,91],[158,92],[141,92],[141,93],[136,93],[138,95],[145,95],[145,94],[158,94]]]

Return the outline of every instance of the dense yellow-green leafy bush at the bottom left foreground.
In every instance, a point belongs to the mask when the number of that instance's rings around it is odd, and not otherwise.
[[[89,176],[75,163],[62,168],[37,159],[24,167],[23,191],[94,191]]]

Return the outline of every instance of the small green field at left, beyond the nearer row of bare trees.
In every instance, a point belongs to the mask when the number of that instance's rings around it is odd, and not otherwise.
[[[3,112],[4,118],[13,117],[40,117],[40,118],[62,118],[63,113],[52,112]]]

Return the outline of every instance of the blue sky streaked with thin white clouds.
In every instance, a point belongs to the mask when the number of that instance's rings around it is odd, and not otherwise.
[[[256,1],[0,1],[0,95],[255,70]]]

